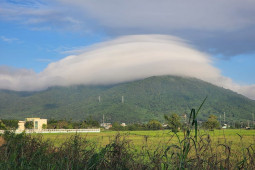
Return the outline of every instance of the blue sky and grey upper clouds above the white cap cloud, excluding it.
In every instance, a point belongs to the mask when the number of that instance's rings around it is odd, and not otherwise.
[[[209,55],[222,76],[255,84],[252,0],[0,0],[4,68],[38,74],[88,46],[141,34],[178,37]]]

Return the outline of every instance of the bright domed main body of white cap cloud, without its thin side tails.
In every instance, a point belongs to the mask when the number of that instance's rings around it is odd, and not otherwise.
[[[57,85],[112,84],[156,75],[214,79],[210,59],[171,36],[125,36],[51,63],[40,75]]]

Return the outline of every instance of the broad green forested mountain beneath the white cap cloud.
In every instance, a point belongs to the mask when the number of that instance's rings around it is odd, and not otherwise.
[[[100,102],[99,102],[100,96]],[[124,103],[122,103],[122,96]],[[42,117],[83,120],[92,116],[114,122],[163,120],[164,114],[184,115],[208,96],[199,119],[225,112],[228,120],[251,120],[255,101],[195,79],[157,76],[111,86],[52,87],[40,92],[0,91],[0,118]]]

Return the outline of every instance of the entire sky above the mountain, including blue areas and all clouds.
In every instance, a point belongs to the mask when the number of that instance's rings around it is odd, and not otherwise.
[[[254,0],[0,0],[0,89],[196,77],[255,99]]]

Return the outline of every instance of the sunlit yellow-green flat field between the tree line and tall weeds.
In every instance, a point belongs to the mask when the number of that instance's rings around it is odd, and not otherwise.
[[[100,133],[79,133],[78,135],[95,142],[98,146],[104,147],[109,144],[117,133],[125,136],[130,140],[130,143],[136,146],[143,146],[145,143],[153,147],[157,144],[172,144],[177,142],[177,137],[169,130],[159,131],[102,131]],[[200,136],[210,135],[214,144],[227,144],[231,147],[239,147],[242,145],[249,146],[255,144],[255,130],[244,129],[226,129],[226,130],[214,130],[214,131],[199,131]],[[50,140],[56,146],[60,146],[68,138],[75,135],[74,133],[57,133],[57,134],[34,134],[35,136],[42,136],[44,140]],[[183,133],[179,132],[178,135],[183,137]],[[242,136],[242,141],[240,136]]]

